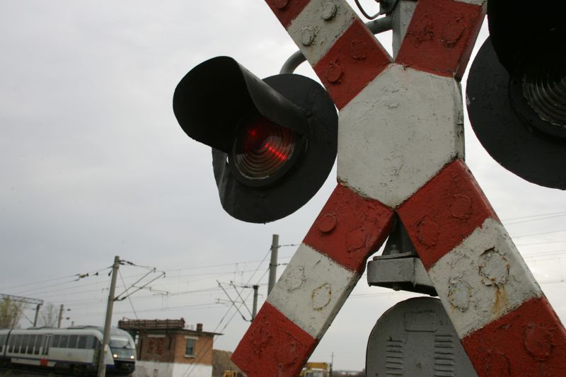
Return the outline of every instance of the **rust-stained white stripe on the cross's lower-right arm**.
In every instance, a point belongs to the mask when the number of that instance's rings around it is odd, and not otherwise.
[[[458,336],[542,296],[529,267],[495,219],[487,219],[429,269],[429,277]]]

